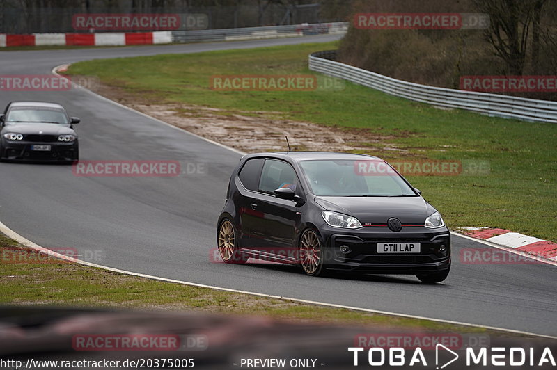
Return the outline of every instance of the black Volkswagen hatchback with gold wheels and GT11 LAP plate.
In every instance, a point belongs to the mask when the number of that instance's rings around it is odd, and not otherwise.
[[[375,156],[329,152],[244,156],[218,220],[224,262],[251,258],[331,271],[411,274],[441,282],[450,233],[439,212]]]

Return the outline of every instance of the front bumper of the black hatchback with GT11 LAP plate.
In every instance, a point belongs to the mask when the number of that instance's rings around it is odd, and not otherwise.
[[[340,231],[340,232],[339,232]],[[401,232],[362,227],[358,230],[324,232],[327,268],[369,273],[420,274],[438,273],[450,267],[450,233],[446,227],[405,227]],[[378,253],[377,243],[414,242],[421,244],[419,253]],[[341,252],[340,247],[350,248]]]

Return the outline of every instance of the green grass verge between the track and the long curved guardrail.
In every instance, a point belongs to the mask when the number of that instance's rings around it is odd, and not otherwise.
[[[557,125],[489,118],[347,83],[343,91],[225,92],[214,74],[297,74],[308,54],[335,43],[202,54],[86,61],[70,74],[96,75],[152,104],[180,102],[229,113],[282,112],[290,120],[366,129],[406,152],[368,152],[387,160],[488,161],[489,175],[409,176],[450,227],[502,227],[557,241]],[[244,113],[245,114],[245,113]],[[326,148],[325,148],[326,149]]]

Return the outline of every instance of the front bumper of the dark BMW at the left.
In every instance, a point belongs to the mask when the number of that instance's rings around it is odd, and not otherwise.
[[[49,145],[48,151],[31,150],[32,145]],[[8,161],[76,161],[79,159],[79,144],[73,143],[33,143],[29,141],[13,142],[3,140],[0,158]]]

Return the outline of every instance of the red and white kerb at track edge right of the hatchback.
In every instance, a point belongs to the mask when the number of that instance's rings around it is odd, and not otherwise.
[[[474,239],[483,239],[490,243],[506,248],[512,248],[528,255],[557,262],[557,243],[538,239],[533,236],[511,232],[505,229],[490,229],[489,227],[462,227],[464,234]]]

